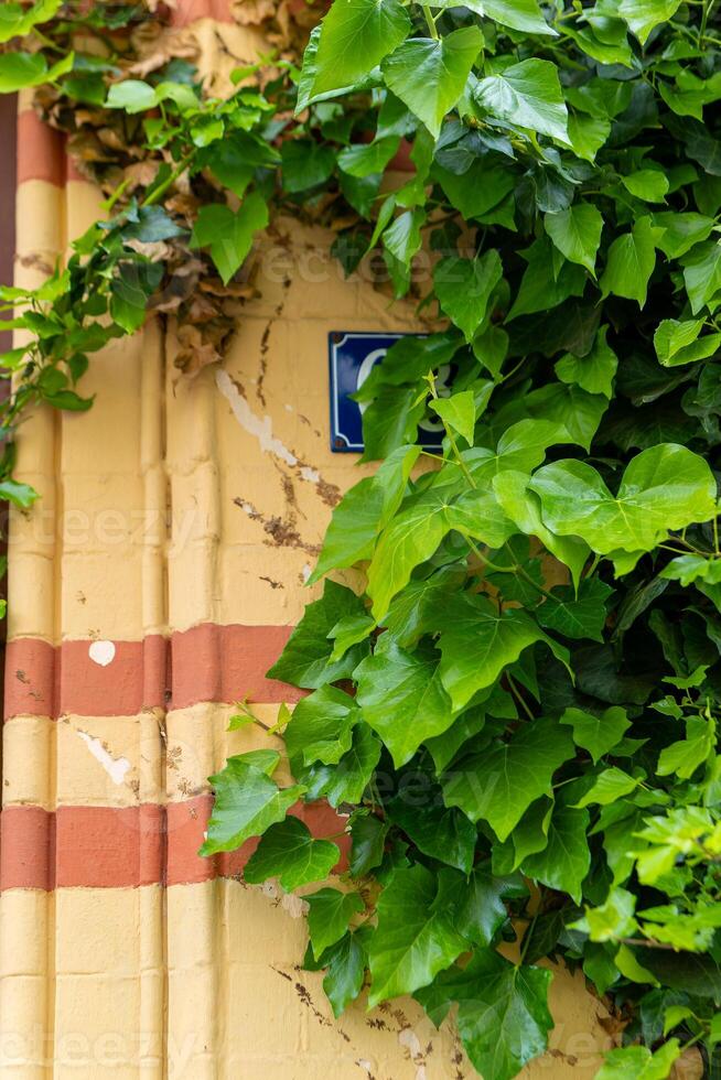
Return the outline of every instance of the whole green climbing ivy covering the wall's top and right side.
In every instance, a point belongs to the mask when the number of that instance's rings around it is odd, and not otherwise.
[[[303,890],[304,963],[336,1015],[366,986],[372,1005],[412,994],[506,1080],[547,1046],[539,962],[563,959],[623,1028],[601,1080],[660,1080],[691,1046],[717,1077],[713,0],[335,0],[302,68],[267,58],[223,98],[187,62],[137,77],[121,33],[107,61],[49,57],[73,36],[62,6],[6,8],[15,35],[53,21],[0,85],[123,133],[98,166],[107,222],[41,290],[3,292],[32,335],[4,358],[10,434],[39,398],[85,408],[86,354],[148,307],[186,327],[186,368],[219,356],[278,207],[334,223],[348,273],[370,260],[437,320],[363,387],[380,464],[335,509],[322,596],[270,672],[310,691],[275,728],[293,782],[275,749],[230,758],[203,853],[260,838],[245,879]],[[417,443],[428,418],[438,453]],[[254,723],[250,703],[233,726]],[[321,799],[343,861],[289,812]]]

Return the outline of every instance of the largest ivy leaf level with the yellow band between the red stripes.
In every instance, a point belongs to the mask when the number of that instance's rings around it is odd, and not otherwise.
[[[487,821],[506,840],[528,807],[551,789],[556,769],[573,756],[570,734],[556,721],[523,725],[507,743],[472,755],[443,778],[446,806]]]

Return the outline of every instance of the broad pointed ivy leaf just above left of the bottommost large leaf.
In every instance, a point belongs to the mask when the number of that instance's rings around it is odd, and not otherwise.
[[[427,986],[466,948],[445,905],[435,908],[435,875],[420,864],[398,870],[378,900],[368,946],[369,1006]]]

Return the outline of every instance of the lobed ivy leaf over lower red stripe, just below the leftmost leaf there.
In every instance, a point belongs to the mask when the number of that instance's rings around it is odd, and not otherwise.
[[[291,893],[311,882],[324,881],[340,858],[336,844],[314,840],[302,821],[286,818],[263,833],[246,863],[244,875],[250,885],[278,877],[286,892]]]

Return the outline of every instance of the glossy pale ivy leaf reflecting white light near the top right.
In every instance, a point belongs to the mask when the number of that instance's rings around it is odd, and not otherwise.
[[[566,101],[558,68],[550,61],[525,60],[512,64],[499,75],[482,78],[474,97],[499,120],[569,144]]]

